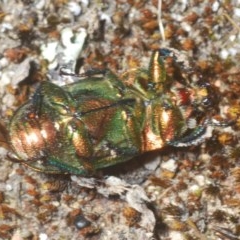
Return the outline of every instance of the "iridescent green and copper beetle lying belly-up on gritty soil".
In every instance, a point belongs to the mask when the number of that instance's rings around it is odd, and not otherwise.
[[[166,73],[172,64],[173,73]],[[111,71],[59,87],[43,82],[9,126],[17,159],[46,173],[88,175],[167,145],[202,142],[211,86],[173,49],[154,51],[148,70]]]

